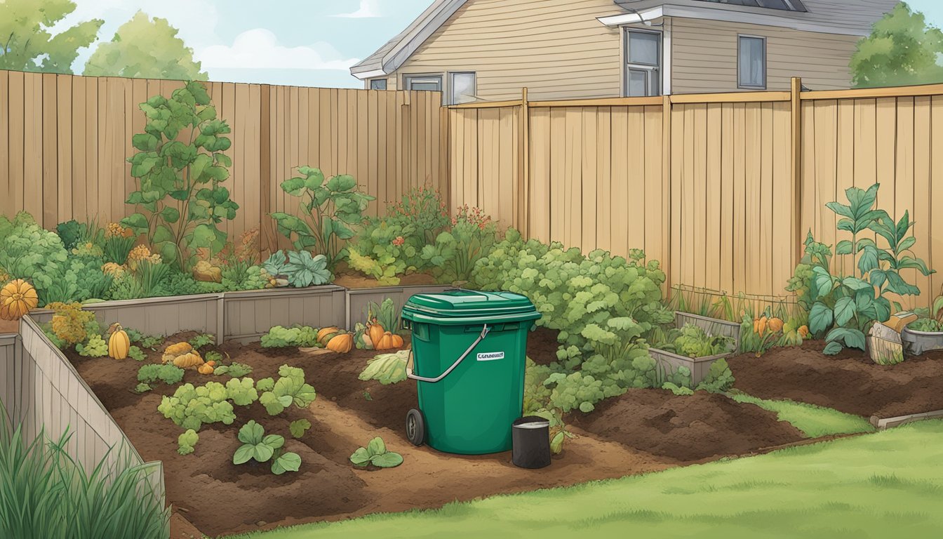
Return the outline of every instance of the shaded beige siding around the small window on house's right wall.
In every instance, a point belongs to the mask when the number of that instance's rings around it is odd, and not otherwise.
[[[775,26],[673,18],[672,93],[736,92],[737,35],[767,39],[767,90],[789,90],[801,76],[812,90],[851,86],[849,60],[859,38]]]

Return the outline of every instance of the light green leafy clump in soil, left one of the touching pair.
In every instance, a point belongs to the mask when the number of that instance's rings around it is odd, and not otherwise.
[[[257,398],[252,379],[230,379],[225,385],[210,381],[199,387],[185,383],[174,396],[161,397],[157,412],[179,427],[199,431],[206,423],[232,425],[236,421],[233,404],[248,406]]]

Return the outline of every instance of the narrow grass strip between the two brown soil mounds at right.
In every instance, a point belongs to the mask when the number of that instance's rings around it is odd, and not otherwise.
[[[780,421],[788,421],[809,438],[834,434],[857,434],[874,430],[864,417],[841,413],[831,408],[792,400],[767,400],[742,393],[730,397],[737,402],[749,402],[769,412],[778,413]]]

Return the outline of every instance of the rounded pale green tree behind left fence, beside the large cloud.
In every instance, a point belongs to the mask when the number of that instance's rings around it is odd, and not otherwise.
[[[207,80],[200,62],[193,59],[193,49],[176,34],[167,19],[152,20],[138,11],[110,42],[98,45],[84,75]]]

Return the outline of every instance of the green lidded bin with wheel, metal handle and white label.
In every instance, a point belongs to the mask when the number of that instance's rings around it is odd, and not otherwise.
[[[419,386],[419,409],[406,416],[410,442],[461,455],[509,450],[527,333],[540,318],[534,304],[510,292],[450,290],[413,295],[402,316],[412,331],[406,374]]]

